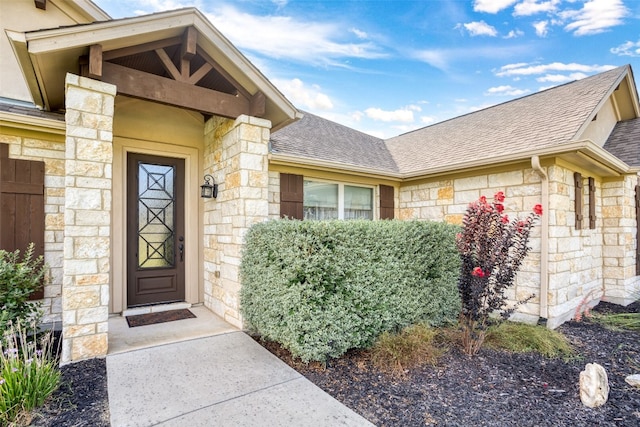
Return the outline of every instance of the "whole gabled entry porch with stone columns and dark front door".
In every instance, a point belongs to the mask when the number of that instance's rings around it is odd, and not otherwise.
[[[270,131],[297,110],[195,9],[12,43],[36,102],[65,110],[62,362],[105,355],[109,315],[140,305],[204,303],[241,327],[238,266],[244,233],[269,217]],[[199,197],[205,174],[217,199]],[[159,279],[146,270],[158,262],[175,271]]]

